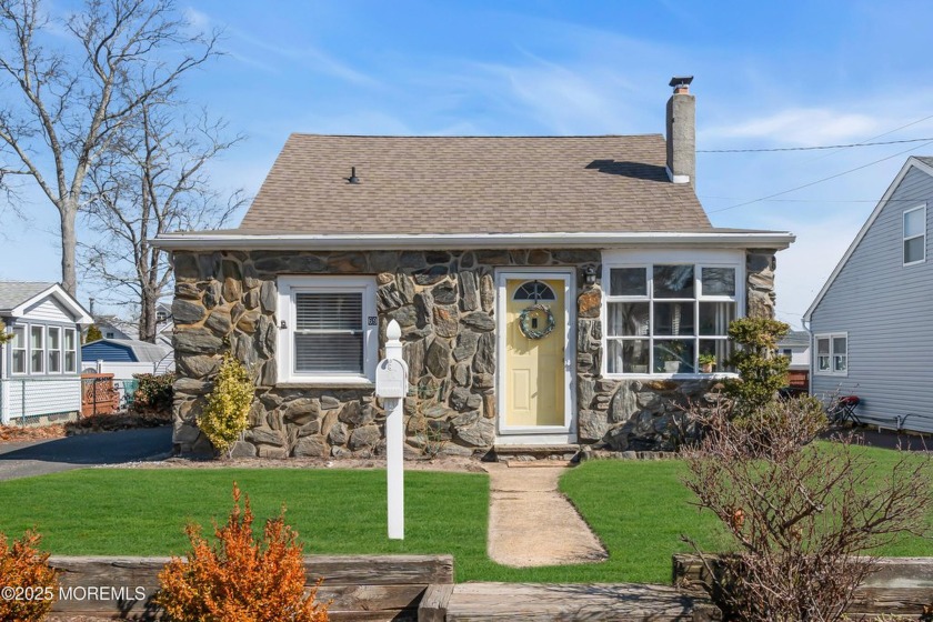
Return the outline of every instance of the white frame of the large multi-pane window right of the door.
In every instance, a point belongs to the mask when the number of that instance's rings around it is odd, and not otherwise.
[[[713,373],[702,373],[700,372],[699,363],[695,364],[695,372],[694,373],[668,373],[668,372],[655,372],[652,369],[651,361],[649,361],[649,370],[648,373],[623,373],[623,372],[615,372],[609,373],[609,341],[611,338],[609,337],[609,324],[606,322],[609,318],[609,304],[611,302],[620,302],[620,301],[630,301],[635,302],[638,300],[649,302],[649,312],[651,313],[650,320],[650,331],[653,334],[654,331],[654,309],[651,305],[651,302],[654,300],[653,292],[651,291],[652,288],[652,269],[654,265],[686,265],[692,264],[694,269],[693,279],[694,279],[694,298],[692,299],[694,302],[694,312],[699,309],[698,302],[734,302],[735,304],[735,319],[744,318],[745,317],[745,251],[744,250],[721,250],[721,251],[706,251],[706,250],[665,250],[665,251],[622,251],[622,250],[614,250],[614,251],[603,251],[603,268],[602,268],[602,288],[603,288],[603,297],[602,297],[602,363],[601,363],[601,371],[602,375],[610,379],[631,379],[631,378],[711,378],[711,377],[734,377],[734,373],[722,373],[722,372],[713,372]],[[610,295],[610,274],[613,268],[645,268],[648,270],[648,291],[645,297],[613,297]],[[732,268],[735,270],[735,295],[734,297],[723,297],[723,295],[709,295],[705,297],[702,293],[702,270],[703,268]],[[668,299],[664,299],[668,301]],[[670,299],[671,302],[676,302],[680,299]],[[694,318],[694,325],[698,327],[699,330],[699,321]],[[652,339],[666,339],[664,337],[655,335]],[[693,338],[694,343],[698,340],[715,340],[718,337],[714,335],[698,335],[695,334]],[[699,349],[694,348],[696,351],[694,353],[694,363],[696,363],[696,358],[699,358]]]

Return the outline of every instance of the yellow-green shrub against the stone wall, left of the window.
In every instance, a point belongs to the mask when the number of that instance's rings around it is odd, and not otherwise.
[[[243,363],[224,354],[208,403],[198,419],[198,427],[218,452],[228,452],[247,429],[254,392]]]

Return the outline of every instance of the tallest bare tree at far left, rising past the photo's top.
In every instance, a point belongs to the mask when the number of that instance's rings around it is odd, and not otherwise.
[[[63,23],[79,53],[48,49],[50,26],[40,0],[0,0],[0,183],[31,178],[54,205],[62,287],[74,294],[88,172],[140,107],[171,98],[215,54],[217,33],[188,34],[171,0],[86,0]]]

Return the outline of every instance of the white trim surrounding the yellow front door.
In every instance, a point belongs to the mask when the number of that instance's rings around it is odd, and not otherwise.
[[[534,277],[564,283],[564,424],[505,425],[505,282]],[[574,268],[501,268],[495,270],[495,433],[498,443],[558,444],[576,442],[576,270]],[[558,319],[560,321],[560,319]]]

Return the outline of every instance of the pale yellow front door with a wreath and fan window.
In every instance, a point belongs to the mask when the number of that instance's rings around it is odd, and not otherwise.
[[[561,279],[505,280],[505,417],[506,428],[564,427],[565,379],[564,281]],[[546,312],[554,318],[548,334]],[[530,309],[522,331],[522,311]]]

